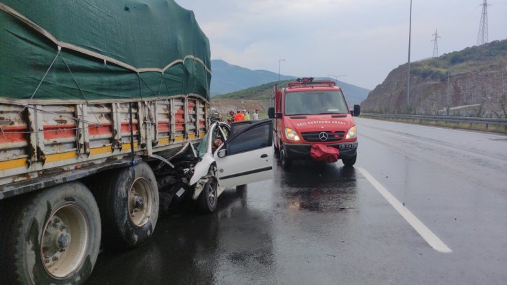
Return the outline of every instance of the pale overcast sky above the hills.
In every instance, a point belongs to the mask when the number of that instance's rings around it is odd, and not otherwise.
[[[410,0],[175,0],[193,10],[212,59],[373,89],[408,60]],[[507,0],[489,0],[489,41],[507,38]],[[410,59],[477,43],[482,0],[412,0]]]

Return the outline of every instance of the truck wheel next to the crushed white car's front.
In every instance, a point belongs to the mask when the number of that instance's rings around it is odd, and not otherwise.
[[[155,175],[145,162],[106,173],[93,193],[102,219],[103,245],[138,247],[153,234],[159,197]]]

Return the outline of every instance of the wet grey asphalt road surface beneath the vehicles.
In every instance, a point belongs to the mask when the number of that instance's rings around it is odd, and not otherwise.
[[[87,284],[507,284],[507,136],[356,123],[354,168],[275,163],[273,179],[226,190],[214,214],[177,206],[150,243],[104,251]]]

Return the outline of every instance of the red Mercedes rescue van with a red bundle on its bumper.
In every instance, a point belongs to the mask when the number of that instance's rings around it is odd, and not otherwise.
[[[293,160],[312,159],[315,144],[338,149],[345,166],[356,163],[358,138],[352,116],[359,116],[360,106],[349,110],[343,91],[333,81],[304,77],[282,90],[275,85],[273,106],[269,108],[275,117],[273,145],[284,168]],[[336,153],[335,149],[331,150]]]

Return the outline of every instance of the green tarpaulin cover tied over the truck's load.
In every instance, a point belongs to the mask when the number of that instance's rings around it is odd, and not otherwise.
[[[0,0],[0,101],[209,101],[210,45],[173,0]]]

